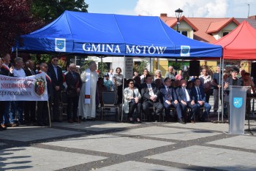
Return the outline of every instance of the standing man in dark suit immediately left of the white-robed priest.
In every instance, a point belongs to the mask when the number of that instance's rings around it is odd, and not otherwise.
[[[75,72],[76,65],[69,65],[70,71],[66,75],[67,83],[67,121],[69,123],[80,122],[78,120],[78,100],[82,81],[78,72]],[[71,115],[72,113],[72,115]]]

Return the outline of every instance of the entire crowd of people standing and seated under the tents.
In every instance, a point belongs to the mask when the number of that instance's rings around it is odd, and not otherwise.
[[[104,105],[103,91],[116,92],[116,104],[123,104],[123,113],[128,115],[131,123],[141,123],[141,113],[146,115],[147,121],[157,121],[159,115],[165,115],[165,121],[173,121],[173,115],[170,113],[173,109],[179,123],[195,123],[196,116],[199,121],[206,121],[211,110],[208,101],[212,93],[214,113],[219,109],[222,75],[224,89],[231,85],[251,86],[252,89],[248,93],[255,92],[255,85],[249,73],[243,69],[239,72],[237,68],[233,68],[230,74],[221,73],[221,77],[219,77],[219,66],[213,75],[208,75],[207,69],[203,68],[199,77],[185,80],[181,70],[175,73],[173,66],[169,66],[165,77],[162,77],[162,71],[159,69],[154,72],[154,75],[150,75],[148,69],[144,69],[142,75],[134,72],[132,78],[124,78],[120,67],[116,68],[116,73],[110,69],[110,72],[99,77],[97,64],[94,61],[89,62],[88,69],[82,73],[78,72],[75,64],[70,64],[69,71],[63,74],[58,65],[59,58],[56,56],[51,58],[49,64],[44,62],[39,64],[39,69],[35,69],[34,62],[31,60],[23,64],[23,58],[19,57],[15,58],[12,66],[10,59],[8,53],[0,59],[0,75],[26,77],[44,72],[47,80],[48,102],[0,101],[0,130],[31,123],[36,123],[38,126],[48,125],[49,111],[53,122],[61,122],[62,113],[59,111],[59,105],[62,92],[67,96],[67,122],[69,123],[94,121],[97,106]],[[229,104],[228,91],[225,91],[224,101],[223,105]],[[249,107],[247,99],[247,112],[250,110]],[[203,113],[201,113],[202,108]]]

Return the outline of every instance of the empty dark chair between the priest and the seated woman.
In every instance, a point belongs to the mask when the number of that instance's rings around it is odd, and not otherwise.
[[[105,109],[116,109],[118,110],[118,118],[117,121],[120,119],[120,112],[121,112],[121,105],[116,104],[116,93],[114,91],[102,92],[102,120],[103,115],[105,116]]]

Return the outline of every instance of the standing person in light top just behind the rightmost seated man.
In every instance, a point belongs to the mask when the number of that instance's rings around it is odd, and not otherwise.
[[[208,75],[207,69],[202,69],[202,75],[199,76],[201,80],[201,86],[206,94],[206,102],[209,102],[211,95],[211,75]]]

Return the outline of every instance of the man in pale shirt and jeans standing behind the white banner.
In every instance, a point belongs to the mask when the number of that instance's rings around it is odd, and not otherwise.
[[[15,68],[13,69],[14,77],[26,77],[26,74],[23,70],[23,59],[20,57],[15,58]],[[10,123],[23,125],[23,110],[24,102],[23,101],[13,101],[11,102],[10,109]],[[18,121],[15,121],[16,111],[18,111]]]

